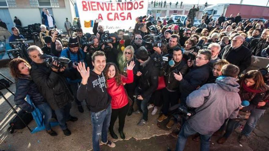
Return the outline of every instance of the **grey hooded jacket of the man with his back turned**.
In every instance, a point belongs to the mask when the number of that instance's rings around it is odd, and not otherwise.
[[[202,135],[212,135],[227,118],[238,115],[241,99],[238,94],[239,84],[234,77],[216,80],[205,84],[190,93],[186,99],[187,106],[197,108],[196,114],[187,122]]]

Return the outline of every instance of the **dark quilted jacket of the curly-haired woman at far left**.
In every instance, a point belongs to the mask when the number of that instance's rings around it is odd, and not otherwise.
[[[26,95],[30,96],[34,105],[40,105],[46,102],[44,97],[39,93],[36,84],[30,77],[20,77],[16,80],[14,102],[20,107],[20,109],[31,113],[35,110],[35,108],[25,101]]]

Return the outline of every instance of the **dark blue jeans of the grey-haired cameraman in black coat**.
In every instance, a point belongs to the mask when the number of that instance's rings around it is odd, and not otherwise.
[[[68,103],[67,105],[65,105],[63,108],[59,108],[55,111],[57,120],[59,122],[59,125],[61,127],[62,130],[67,129],[67,124],[66,121],[68,121],[71,118],[70,115],[70,109],[71,109],[71,102]]]

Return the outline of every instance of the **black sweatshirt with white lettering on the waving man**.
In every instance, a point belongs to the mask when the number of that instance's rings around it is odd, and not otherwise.
[[[92,112],[105,110],[110,105],[111,98],[107,93],[104,73],[99,75],[90,70],[87,84],[80,84],[78,88],[77,99],[86,100],[87,106]]]

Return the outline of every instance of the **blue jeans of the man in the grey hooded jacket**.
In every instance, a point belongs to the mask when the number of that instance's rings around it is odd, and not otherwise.
[[[187,141],[187,138],[190,135],[196,134],[197,131],[193,130],[188,122],[185,122],[185,124],[182,126],[179,132],[179,139],[177,141],[176,149],[175,151],[183,151],[185,148],[185,144]],[[200,150],[201,151],[209,151],[209,139],[211,135],[201,135],[201,145],[200,145]]]

